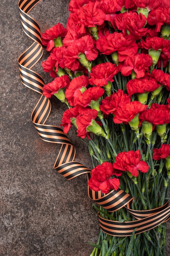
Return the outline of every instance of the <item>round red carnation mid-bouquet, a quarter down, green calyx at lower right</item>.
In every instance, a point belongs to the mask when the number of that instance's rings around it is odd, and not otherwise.
[[[90,73],[89,83],[91,85],[104,86],[107,85],[107,82],[113,82],[113,76],[118,74],[119,67],[110,62],[101,63],[92,67],[92,71]]]

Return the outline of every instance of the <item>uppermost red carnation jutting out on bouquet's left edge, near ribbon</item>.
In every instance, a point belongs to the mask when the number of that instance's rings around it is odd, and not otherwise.
[[[47,46],[47,51],[50,51],[54,47],[54,40],[59,36],[63,38],[67,34],[67,29],[63,27],[61,23],[57,23],[54,27],[47,29],[41,34],[42,44]]]

